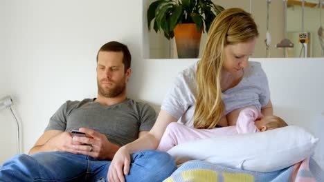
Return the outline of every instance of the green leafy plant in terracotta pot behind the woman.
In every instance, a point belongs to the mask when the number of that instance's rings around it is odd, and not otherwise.
[[[224,10],[211,0],[158,0],[147,10],[147,26],[163,30],[167,39],[175,37],[179,58],[195,58],[199,54],[201,32]]]

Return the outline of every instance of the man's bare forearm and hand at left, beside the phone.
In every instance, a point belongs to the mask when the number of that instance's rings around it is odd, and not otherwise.
[[[71,134],[69,132],[62,132],[60,130],[48,130],[39,137],[28,154],[50,151],[71,152],[76,154],[78,151],[73,149],[73,144],[77,143],[73,143]]]

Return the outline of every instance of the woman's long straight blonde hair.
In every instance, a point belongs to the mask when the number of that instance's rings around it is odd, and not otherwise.
[[[251,41],[258,37],[257,26],[251,14],[240,8],[222,11],[213,21],[208,32],[206,48],[198,63],[195,80],[195,128],[215,128],[222,117],[224,103],[220,86],[224,47]]]

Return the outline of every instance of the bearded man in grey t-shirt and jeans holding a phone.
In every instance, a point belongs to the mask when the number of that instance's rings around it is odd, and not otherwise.
[[[149,105],[126,97],[130,65],[126,45],[102,45],[97,54],[98,97],[66,101],[29,155],[3,164],[0,181],[107,181],[116,151],[146,134],[156,119]],[[71,136],[71,130],[86,136]],[[130,162],[127,181],[162,181],[176,168],[170,155],[155,150],[133,154]]]

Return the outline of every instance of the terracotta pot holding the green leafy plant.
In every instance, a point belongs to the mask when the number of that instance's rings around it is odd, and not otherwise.
[[[173,32],[177,44],[178,57],[197,58],[202,28],[198,32],[195,23],[181,23],[174,28]]]

